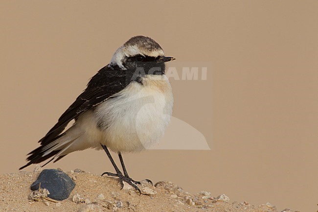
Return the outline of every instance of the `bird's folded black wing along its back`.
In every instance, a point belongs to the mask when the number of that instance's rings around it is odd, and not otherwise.
[[[39,141],[41,145],[54,141],[72,119],[78,118],[85,111],[120,92],[126,85],[126,71],[118,66],[108,65],[99,70],[91,78],[85,91],[76,98],[52,129]]]

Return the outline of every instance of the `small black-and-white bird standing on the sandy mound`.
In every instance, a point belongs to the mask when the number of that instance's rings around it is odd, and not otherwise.
[[[55,163],[74,151],[103,149],[116,173],[102,175],[118,177],[121,188],[126,182],[140,195],[140,182],[128,175],[122,153],[145,150],[163,137],[174,101],[165,75],[165,63],[172,60],[175,58],[165,56],[152,38],[130,38],[114,52],[111,62],[91,77],[83,93],[38,141],[40,146],[27,154],[27,164],[19,170],[47,159],[44,165]],[[109,150],[118,154],[123,173]]]

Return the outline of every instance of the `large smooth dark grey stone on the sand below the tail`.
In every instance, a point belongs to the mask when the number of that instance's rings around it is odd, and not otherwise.
[[[64,200],[69,197],[70,192],[75,188],[74,181],[63,171],[57,169],[44,169],[38,179],[31,185],[31,190],[46,188],[47,195],[51,199]]]

